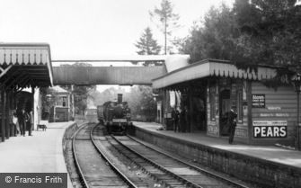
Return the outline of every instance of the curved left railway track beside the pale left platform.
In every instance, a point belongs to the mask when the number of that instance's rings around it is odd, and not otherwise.
[[[86,124],[75,132],[72,142],[73,156],[82,185],[92,187],[137,187],[126,175],[105,157],[93,140],[93,124]]]

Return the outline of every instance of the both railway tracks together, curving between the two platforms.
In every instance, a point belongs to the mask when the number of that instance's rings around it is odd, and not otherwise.
[[[97,129],[95,129],[97,128]],[[105,149],[107,148],[107,149]],[[108,149],[110,148],[110,149]],[[109,150],[119,152],[128,161],[138,166],[143,178],[152,177],[153,183],[128,175],[112,161]],[[83,187],[243,187],[223,176],[215,175],[197,166],[168,156],[128,136],[107,136],[101,126],[86,124],[75,132],[72,141],[73,156],[77,173]],[[120,163],[124,163],[122,158]],[[128,171],[128,169],[126,169]],[[162,185],[162,186],[161,186]]]

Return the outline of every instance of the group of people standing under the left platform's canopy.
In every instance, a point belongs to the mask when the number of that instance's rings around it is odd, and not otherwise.
[[[25,131],[28,130],[28,135],[32,136],[31,130],[33,126],[33,115],[31,112],[26,112],[24,109],[21,111],[13,112],[13,127],[15,128],[15,133],[25,137]]]

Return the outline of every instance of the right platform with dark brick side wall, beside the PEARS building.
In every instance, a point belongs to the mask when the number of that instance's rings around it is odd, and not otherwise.
[[[161,124],[133,122],[135,137],[193,163],[259,187],[301,187],[301,151],[252,146],[214,138],[205,132],[162,130]]]

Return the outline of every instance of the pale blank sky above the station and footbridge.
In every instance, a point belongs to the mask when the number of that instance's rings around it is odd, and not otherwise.
[[[0,41],[47,42],[52,59],[97,59],[136,54],[134,43],[150,26],[156,40],[163,35],[148,11],[161,0],[2,0]],[[193,21],[222,0],[172,0],[184,37]],[[224,0],[233,4],[234,0]]]

